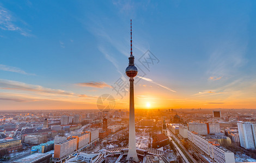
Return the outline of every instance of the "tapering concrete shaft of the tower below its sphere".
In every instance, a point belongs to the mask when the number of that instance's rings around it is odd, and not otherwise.
[[[135,139],[135,110],[134,110],[134,89],[133,89],[133,77],[130,77],[130,120],[129,120],[129,151],[126,160],[132,157],[133,161],[138,162],[138,155],[136,151],[136,139]]]

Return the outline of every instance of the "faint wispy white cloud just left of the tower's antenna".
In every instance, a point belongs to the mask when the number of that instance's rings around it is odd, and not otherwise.
[[[80,20],[92,33],[95,38],[98,40],[97,48],[104,55],[104,57],[110,61],[114,67],[117,69],[118,73],[124,77],[123,71],[120,71],[119,62],[116,61],[115,58],[118,58],[117,54],[123,54],[125,57],[129,57],[129,36],[123,37],[123,35],[117,34],[117,32],[113,31],[115,22],[109,22],[111,20],[102,19],[100,16],[90,15],[89,17],[90,23],[88,21],[84,22]],[[127,23],[129,24],[129,23]],[[119,24],[121,26],[122,24]],[[113,39],[115,38],[115,39]],[[147,40],[144,40],[147,42]],[[139,41],[136,41],[136,45],[139,45]],[[135,49],[139,51],[143,48],[140,45],[139,48],[133,45]],[[143,51],[142,53],[144,53]]]

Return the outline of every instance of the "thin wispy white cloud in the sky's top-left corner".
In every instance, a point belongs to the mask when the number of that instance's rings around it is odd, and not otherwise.
[[[16,31],[23,36],[31,36],[25,29],[18,27],[14,22],[15,18],[10,14],[10,11],[0,5],[0,29]]]

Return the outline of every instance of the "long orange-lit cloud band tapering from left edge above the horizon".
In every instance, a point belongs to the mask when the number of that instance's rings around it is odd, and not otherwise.
[[[0,100],[15,102],[62,101],[70,103],[95,103],[97,97],[70,91],[50,89],[40,85],[0,79]]]

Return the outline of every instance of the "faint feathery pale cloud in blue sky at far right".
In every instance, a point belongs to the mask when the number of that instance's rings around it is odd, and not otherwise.
[[[247,63],[245,55],[248,39],[240,39],[237,37],[237,32],[241,32],[241,29],[247,31],[248,21],[248,19],[243,20],[239,28],[229,30],[227,36],[223,36],[213,45],[214,49],[211,50],[209,60],[206,62],[206,74],[211,80],[237,76],[239,68]]]

